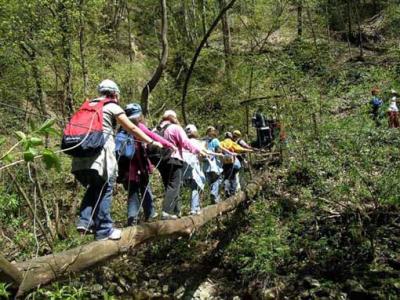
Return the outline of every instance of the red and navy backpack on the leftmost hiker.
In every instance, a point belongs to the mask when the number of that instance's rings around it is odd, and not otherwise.
[[[86,100],[73,114],[64,128],[61,149],[74,157],[90,157],[99,154],[106,139],[103,134],[103,106],[115,103],[108,98]]]

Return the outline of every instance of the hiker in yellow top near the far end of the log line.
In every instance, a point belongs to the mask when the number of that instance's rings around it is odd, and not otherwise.
[[[251,149],[246,149],[233,141],[231,132],[225,133],[225,139],[221,142],[221,147],[227,149],[231,153],[252,152]],[[236,174],[241,168],[239,159],[232,154],[226,154],[223,158],[223,174],[224,174],[224,190],[225,196],[230,197],[237,191],[238,179]]]

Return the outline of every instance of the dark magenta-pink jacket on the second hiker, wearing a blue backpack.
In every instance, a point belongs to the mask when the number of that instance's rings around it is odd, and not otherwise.
[[[143,123],[139,123],[138,127],[150,138],[163,145],[163,147],[173,147],[172,143],[148,129]],[[138,142],[135,144],[135,147],[135,155],[129,165],[129,181],[140,182],[140,175],[148,176],[149,173],[153,172],[154,167],[146,156],[143,144]]]

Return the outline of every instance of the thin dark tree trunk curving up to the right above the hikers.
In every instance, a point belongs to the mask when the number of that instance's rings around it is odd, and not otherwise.
[[[196,65],[197,59],[199,58],[200,52],[203,49],[204,45],[207,43],[208,38],[210,37],[211,33],[214,31],[215,27],[217,27],[219,21],[222,19],[222,16],[228,11],[234,4],[236,0],[231,0],[221,11],[219,12],[218,16],[215,18],[214,22],[211,24],[210,28],[208,29],[207,33],[204,35],[203,39],[201,40],[199,46],[197,47],[192,62],[190,63],[190,67],[188,73],[185,78],[185,83],[183,85],[182,91],[182,101],[181,101],[181,109],[182,109],[182,117],[185,124],[188,124],[188,119],[186,116],[186,96],[187,96],[187,89],[189,86],[190,78],[192,77],[192,73],[194,70],[194,66]]]

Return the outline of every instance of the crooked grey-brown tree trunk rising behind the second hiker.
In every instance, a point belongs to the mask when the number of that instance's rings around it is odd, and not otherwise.
[[[162,44],[162,54],[161,61],[158,64],[156,71],[154,72],[151,79],[146,83],[145,87],[142,90],[141,95],[141,105],[143,114],[147,115],[149,112],[149,95],[152,90],[156,87],[157,83],[160,81],[162,73],[167,66],[168,60],[168,19],[167,19],[167,2],[166,0],[160,0],[161,4],[161,44]]]

